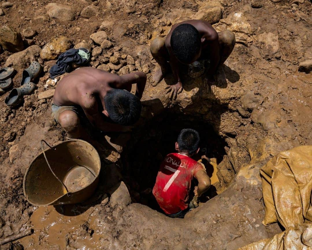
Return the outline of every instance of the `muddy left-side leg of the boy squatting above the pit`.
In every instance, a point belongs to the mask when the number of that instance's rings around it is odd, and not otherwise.
[[[156,86],[163,79],[164,75],[168,72],[168,68],[170,68],[168,61],[169,55],[167,48],[165,46],[165,38],[157,37],[151,42],[150,51],[159,64],[160,67],[156,68],[154,72],[151,83],[152,86]]]

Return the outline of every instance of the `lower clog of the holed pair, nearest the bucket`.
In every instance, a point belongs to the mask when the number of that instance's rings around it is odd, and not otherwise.
[[[5,98],[4,103],[13,108],[20,104],[23,100],[23,96],[30,95],[36,88],[36,84],[29,82],[23,84],[22,87],[13,88],[9,95]]]

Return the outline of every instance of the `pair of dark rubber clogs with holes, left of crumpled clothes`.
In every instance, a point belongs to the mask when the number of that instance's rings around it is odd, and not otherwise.
[[[32,62],[27,69],[23,70],[21,87],[13,88],[9,95],[5,98],[4,103],[13,108],[20,104],[23,96],[30,95],[36,88],[36,84],[32,81],[41,73],[41,65],[38,62]]]

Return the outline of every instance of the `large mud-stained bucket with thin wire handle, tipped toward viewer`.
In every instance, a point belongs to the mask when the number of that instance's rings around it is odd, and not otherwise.
[[[43,150],[26,170],[23,190],[34,206],[80,203],[99,182],[100,156],[90,143],[71,139]]]

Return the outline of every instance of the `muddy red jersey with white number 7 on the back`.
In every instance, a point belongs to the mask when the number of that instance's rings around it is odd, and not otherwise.
[[[202,165],[187,155],[168,154],[161,163],[153,188],[159,206],[167,214],[188,208],[188,195],[193,177]]]

